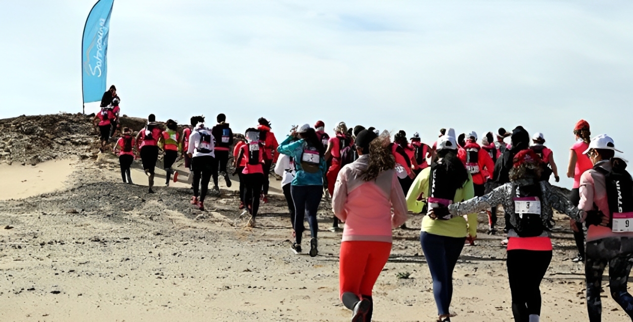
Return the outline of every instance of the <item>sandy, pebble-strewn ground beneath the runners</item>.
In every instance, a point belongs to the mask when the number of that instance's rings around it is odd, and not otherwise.
[[[320,254],[311,258],[291,252],[278,194],[249,229],[239,217],[237,182],[229,190],[221,180],[222,195],[208,197],[202,213],[188,203],[186,183],[163,187],[158,170],[149,195],[140,170],[140,185],[123,184],[108,156],[14,167],[0,167],[0,199],[23,198],[0,201],[0,226],[10,228],[0,229],[0,321],[349,321],[338,300],[341,235],[327,231],[326,202]],[[20,190],[21,176],[39,181]],[[420,220],[410,216],[413,228],[394,231],[374,289],[374,321],[436,318]],[[455,269],[453,321],[511,321],[502,237],[483,233],[485,221],[481,216],[477,245],[464,248]],[[541,284],[542,321],[587,321],[583,268],[570,261],[567,221],[560,216],[557,224]],[[410,278],[396,277],[405,272]],[[628,321],[604,296],[603,321]]]

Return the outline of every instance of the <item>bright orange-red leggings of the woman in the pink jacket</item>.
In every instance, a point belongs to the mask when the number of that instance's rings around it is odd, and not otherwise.
[[[344,292],[372,295],[373,285],[391,254],[391,243],[351,241],[341,243],[339,298]]]

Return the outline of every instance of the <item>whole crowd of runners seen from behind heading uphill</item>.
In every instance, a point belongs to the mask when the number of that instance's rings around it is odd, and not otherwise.
[[[116,132],[118,102],[114,86],[104,94],[95,117],[101,151]],[[340,299],[353,311],[352,321],[371,321],[372,288],[391,252],[392,229],[404,225],[408,213],[425,214],[420,244],[433,280],[437,321],[450,321],[453,269],[465,245],[474,245],[477,214],[486,212],[487,233],[503,233],[507,247],[508,282],[515,321],[539,321],[539,285],[553,256],[553,211],[567,214],[577,248],[576,262],[585,264],[589,321],[601,321],[601,281],[609,266],[611,297],[633,317],[633,297],[627,280],[633,264],[633,190],[624,159],[615,156],[615,142],[608,135],[591,139],[589,123],[577,122],[570,148],[567,176],[573,178],[571,195],[553,189],[549,180],[560,180],[554,154],[542,133],[523,127],[511,132],[499,128],[479,138],[477,133],[456,135],[441,129],[439,138],[425,144],[415,133],[407,138],[389,132],[338,123],[329,135],[325,124],[292,127],[281,143],[270,122],[258,124],[237,137],[226,123],[216,124],[193,116],[182,131],[173,120],[166,128],[149,115],[147,125],[134,137],[123,128],[113,151],[118,154],[123,182],[132,183],[130,165],[141,158],[153,193],[154,168],[160,151],[166,185],[174,162],[182,156],[192,183],[191,204],[204,210],[204,199],[213,178],[219,194],[220,176],[231,186],[227,165],[239,176],[239,209],[256,225],[260,202],[268,201],[270,171],[281,176],[294,241],[292,250],[303,252],[304,218],[310,228],[309,251],[318,254],[316,212],[323,195],[332,202],[332,228],[342,231]],[[234,140],[236,142],[234,142]],[[232,156],[232,158],[230,158]],[[503,229],[496,223],[503,206]],[[344,229],[339,228],[339,221]],[[633,318],[632,318],[633,321]]]

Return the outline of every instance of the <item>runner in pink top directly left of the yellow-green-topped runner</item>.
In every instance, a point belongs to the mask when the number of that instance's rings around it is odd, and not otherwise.
[[[156,161],[158,160],[158,140],[161,139],[161,133],[163,130],[156,123],[156,116],[150,114],[147,116],[147,125],[139,131],[136,135],[136,145],[141,154],[141,161],[143,163],[143,170],[148,176],[149,192],[154,193],[152,187],[154,187],[154,168],[156,168]]]

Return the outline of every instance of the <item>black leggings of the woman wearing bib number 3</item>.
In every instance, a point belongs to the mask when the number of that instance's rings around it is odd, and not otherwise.
[[[541,280],[551,259],[552,251],[508,251],[506,264],[515,321],[529,322],[530,315],[541,315]]]

